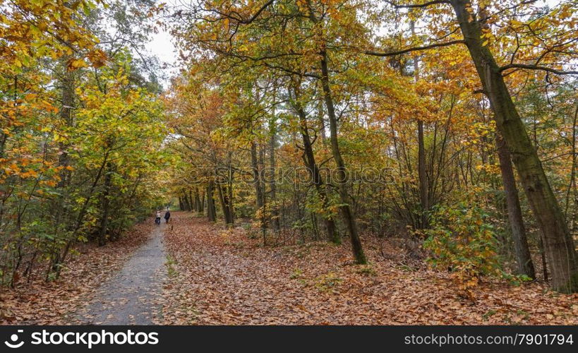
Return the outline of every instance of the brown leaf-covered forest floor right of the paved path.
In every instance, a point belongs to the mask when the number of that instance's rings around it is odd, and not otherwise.
[[[243,227],[179,213],[164,234],[171,262],[161,324],[578,324],[578,294],[540,282],[484,282],[461,297],[447,273],[404,261],[391,239],[366,238],[371,265],[349,244],[261,246]]]

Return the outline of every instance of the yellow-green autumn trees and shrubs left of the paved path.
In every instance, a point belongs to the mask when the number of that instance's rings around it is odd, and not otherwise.
[[[117,11],[118,9],[116,9]],[[165,131],[130,50],[100,44],[92,1],[0,1],[0,284],[59,276],[155,201]]]

